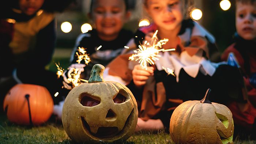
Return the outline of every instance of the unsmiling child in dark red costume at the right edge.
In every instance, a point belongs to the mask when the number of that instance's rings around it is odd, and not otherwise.
[[[236,30],[236,42],[225,50],[222,60],[233,53],[244,76],[248,103],[233,102],[228,107],[233,113],[236,134],[248,139],[250,133],[254,133],[251,138],[256,136],[256,0],[236,0]]]

